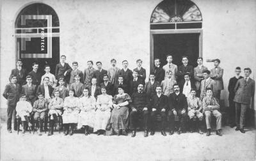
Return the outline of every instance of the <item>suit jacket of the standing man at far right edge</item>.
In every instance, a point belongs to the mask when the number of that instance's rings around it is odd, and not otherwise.
[[[244,80],[244,78],[239,79],[234,90],[236,93],[234,102],[240,104],[250,104],[251,98],[254,96],[255,92],[255,81],[251,78],[249,78],[247,82]]]

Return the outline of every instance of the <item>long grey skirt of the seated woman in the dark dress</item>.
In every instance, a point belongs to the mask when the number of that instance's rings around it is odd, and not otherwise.
[[[126,130],[128,127],[128,107],[123,106],[120,109],[113,109],[110,118],[110,125],[114,132],[118,130]]]

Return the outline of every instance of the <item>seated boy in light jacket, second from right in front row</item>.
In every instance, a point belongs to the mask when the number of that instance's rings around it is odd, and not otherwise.
[[[202,112],[200,112],[202,108],[202,101],[200,98],[196,97],[196,89],[192,88],[190,91],[190,95],[187,98],[188,100],[188,116],[189,119],[192,118],[198,118],[200,122],[200,128],[199,128],[199,134],[203,134],[202,128],[203,128],[203,117],[204,115]]]

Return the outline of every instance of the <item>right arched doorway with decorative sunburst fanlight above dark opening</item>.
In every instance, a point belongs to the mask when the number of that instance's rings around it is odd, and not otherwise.
[[[189,0],[164,0],[150,17],[150,70],[154,59],[166,64],[166,55],[172,54],[173,63],[181,65],[181,57],[188,56],[189,64],[196,66],[202,56],[202,14]]]

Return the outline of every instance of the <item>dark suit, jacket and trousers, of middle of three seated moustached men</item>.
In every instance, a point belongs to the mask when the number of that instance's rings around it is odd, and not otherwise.
[[[161,130],[165,130],[166,127],[166,111],[168,110],[168,98],[167,96],[161,94],[160,97],[157,94],[151,97],[150,101],[151,109],[156,109],[156,111],[151,112],[151,130],[156,130],[156,117],[157,114],[161,115]],[[165,109],[165,112],[162,112],[162,109]]]

